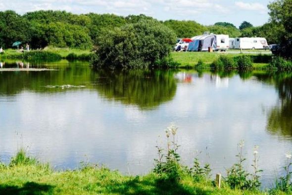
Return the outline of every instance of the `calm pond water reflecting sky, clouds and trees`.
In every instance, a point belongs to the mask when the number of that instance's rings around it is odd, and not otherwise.
[[[81,161],[125,174],[153,168],[155,146],[174,122],[183,163],[209,162],[213,173],[236,162],[245,141],[246,166],[259,146],[264,186],[281,174],[292,150],[292,75],[195,71],[97,71],[87,62],[3,68],[56,71],[0,72],[0,159],[17,148],[56,169]],[[160,136],[160,138],[159,138]]]

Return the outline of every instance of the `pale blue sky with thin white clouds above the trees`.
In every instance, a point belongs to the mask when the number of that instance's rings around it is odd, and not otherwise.
[[[270,0],[0,0],[0,11],[19,14],[36,10],[72,13],[145,14],[158,20],[195,20],[203,25],[231,22],[237,27],[248,21],[254,26],[268,21]]]

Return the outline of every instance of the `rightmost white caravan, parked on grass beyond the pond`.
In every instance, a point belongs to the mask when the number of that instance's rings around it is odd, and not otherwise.
[[[235,38],[235,49],[267,49],[268,43],[261,37]]]

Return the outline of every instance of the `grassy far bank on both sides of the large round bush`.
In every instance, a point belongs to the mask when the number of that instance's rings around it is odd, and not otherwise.
[[[171,52],[171,58],[178,62],[181,68],[194,67],[200,61],[203,69],[210,69],[210,65],[220,56],[237,57],[249,55],[253,58],[253,68],[256,70],[265,69],[269,63],[271,55],[261,55],[255,53],[225,53],[225,52]],[[90,50],[69,49],[69,48],[46,48],[41,51],[18,52],[15,49],[7,49],[4,54],[0,54],[0,59],[23,59],[23,60],[90,60],[92,52]]]

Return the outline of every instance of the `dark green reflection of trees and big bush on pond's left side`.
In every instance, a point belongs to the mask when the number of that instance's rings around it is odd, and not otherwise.
[[[31,65],[22,61],[6,63],[6,68],[30,67],[52,68],[48,64]],[[92,70],[86,62],[70,62],[70,65],[54,65],[53,68],[57,71],[2,72],[0,94],[16,95],[24,90],[57,93],[86,87],[97,90],[103,98],[149,109],[171,100],[177,88],[174,71]]]

